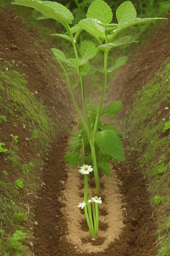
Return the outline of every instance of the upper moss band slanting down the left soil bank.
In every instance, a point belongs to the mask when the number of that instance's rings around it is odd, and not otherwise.
[[[43,101],[37,100],[35,95],[28,90],[24,75],[6,70],[8,69],[7,63],[5,67],[0,68],[2,78],[0,106],[11,115],[15,115],[21,122],[28,123],[29,130],[32,131],[31,139],[39,144],[41,150],[44,147],[50,147],[50,140],[55,135],[56,126],[50,118],[50,112]],[[36,136],[35,130],[38,131]]]

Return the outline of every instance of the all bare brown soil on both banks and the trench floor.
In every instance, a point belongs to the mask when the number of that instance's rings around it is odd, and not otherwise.
[[[37,224],[33,224],[35,241],[33,247],[29,246],[29,249],[36,256],[154,255],[157,226],[152,218],[147,181],[135,163],[137,154],[129,154],[126,151],[126,142],[124,142],[126,163],[114,163],[112,178],[109,181],[112,185],[108,184],[108,188],[101,186],[103,206],[100,208],[100,213],[104,225],[100,223],[96,240],[91,240],[84,224],[84,216],[77,207],[82,200],[82,180],[63,160],[67,148],[67,133],[63,127],[73,128],[77,123],[66,82],[57,77],[53,67],[49,70],[49,63],[59,69],[57,63],[52,60],[49,44],[40,42],[35,30],[25,27],[21,19],[11,10],[0,9],[0,14],[0,61],[10,61],[14,64],[11,69],[26,75],[29,90],[32,93],[37,92],[36,97],[42,99],[48,106],[52,118],[59,126],[56,139],[52,143],[52,151],[48,158],[44,156],[43,169],[37,170],[41,180],[36,194],[39,198],[27,201],[29,207],[35,210],[33,222],[36,221]],[[27,32],[24,32],[25,29]],[[116,80],[108,89],[105,102],[121,100],[125,106],[120,113],[122,118],[125,117],[125,111],[131,109],[133,93],[141,89],[169,57],[169,32],[169,23],[160,26],[154,40],[142,47],[129,64],[119,71]],[[40,43],[40,48],[35,46],[35,39]],[[12,46],[16,48],[12,49]],[[31,154],[36,152],[33,145],[27,147],[25,144],[25,137],[29,138],[29,130],[23,131],[18,119],[11,117],[5,110],[2,109],[1,114],[17,123],[17,128],[10,123],[3,124],[0,129],[0,139],[4,141],[5,138],[8,145],[9,134],[13,131],[17,132],[20,135],[18,147],[22,152],[22,159],[31,159]],[[9,179],[13,180],[11,165],[2,156],[1,167],[1,170],[8,172]],[[103,184],[106,184],[106,181],[103,181]],[[109,191],[109,187],[113,191]],[[23,197],[22,199],[25,200]],[[112,204],[113,199],[116,200],[116,205]],[[114,214],[115,207],[117,207],[118,214],[115,213],[117,215]],[[114,218],[113,222],[111,222],[112,218]],[[74,221],[75,225],[72,225]],[[109,235],[107,235],[108,230]]]

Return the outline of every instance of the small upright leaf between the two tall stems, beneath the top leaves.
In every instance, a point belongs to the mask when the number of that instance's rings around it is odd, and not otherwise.
[[[95,57],[98,51],[99,49],[96,48],[95,43],[84,40],[80,46],[80,55],[82,56],[81,63],[86,63],[87,60],[90,60],[93,57]]]

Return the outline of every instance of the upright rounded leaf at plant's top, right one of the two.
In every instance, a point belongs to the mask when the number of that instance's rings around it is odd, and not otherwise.
[[[137,12],[132,2],[125,1],[116,10],[116,18],[118,24],[128,23],[129,20],[135,19]]]

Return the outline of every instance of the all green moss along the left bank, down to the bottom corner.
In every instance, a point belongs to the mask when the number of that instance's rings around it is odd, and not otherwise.
[[[10,255],[32,255],[28,251],[19,251],[21,243],[19,240],[15,240],[16,250],[11,245],[14,245],[14,234],[18,230],[24,230],[22,221],[27,218],[27,205],[22,204],[20,201],[19,192],[22,189],[22,193],[28,193],[29,191],[35,191],[37,175],[35,168],[43,166],[41,160],[41,154],[46,154],[50,149],[50,143],[55,136],[56,124],[50,118],[50,112],[44,105],[42,100],[37,100],[35,95],[27,88],[27,81],[25,76],[16,71],[9,70],[12,67],[11,64],[5,62],[0,63],[0,108],[3,108],[6,113],[6,117],[0,116],[0,123],[6,125],[10,117],[14,126],[14,119],[16,123],[24,123],[29,130],[30,137],[27,138],[27,143],[33,144],[35,149],[35,156],[32,156],[31,162],[29,160],[22,159],[20,154],[19,134],[11,135],[11,143],[8,145],[8,151],[3,154],[3,158],[7,164],[11,164],[11,171],[15,176],[14,181],[8,180],[8,174],[2,170],[2,177],[0,180],[0,219],[2,222],[2,232],[0,230],[0,256],[6,255],[10,252]],[[12,125],[11,123],[11,125]],[[10,134],[9,134],[10,136]],[[19,137],[19,138],[18,138]],[[18,142],[18,143],[17,143]],[[4,146],[4,145],[2,145]],[[28,161],[28,162],[27,162]],[[13,177],[13,176],[12,176]],[[10,175],[11,178],[11,175]],[[23,188],[17,187],[15,181],[17,179],[24,180]],[[30,241],[27,234],[26,240]],[[28,242],[25,241],[25,242]]]

